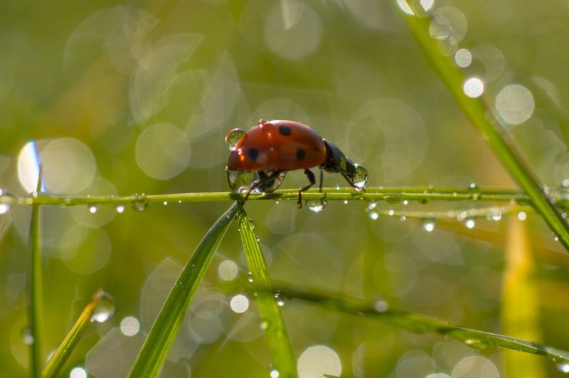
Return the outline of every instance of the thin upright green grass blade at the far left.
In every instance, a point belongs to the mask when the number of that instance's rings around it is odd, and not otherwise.
[[[37,197],[37,193],[41,190],[42,170],[38,175],[37,192],[33,196]],[[41,271],[41,248],[40,248],[40,205],[33,204],[31,209],[31,220],[29,230],[30,245],[30,276],[28,278],[29,291],[29,329],[31,335],[29,366],[31,377],[40,377],[41,374],[41,340],[43,318],[43,286]]]

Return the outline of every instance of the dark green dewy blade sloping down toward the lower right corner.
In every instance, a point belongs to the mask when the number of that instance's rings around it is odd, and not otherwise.
[[[569,352],[565,350],[559,350],[536,342],[511,338],[497,333],[461,327],[445,320],[431,318],[426,315],[396,310],[389,308],[388,305],[383,302],[372,305],[361,299],[339,298],[325,293],[302,291],[285,286],[277,286],[277,289],[289,299],[297,298],[313,303],[319,306],[319,308],[328,308],[333,311],[341,311],[363,318],[381,320],[383,323],[410,330],[414,333],[443,335],[460,340],[469,347],[477,349],[486,349],[495,346],[505,347],[519,352],[531,353],[532,355],[549,357],[558,364],[569,363]]]

